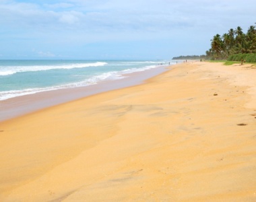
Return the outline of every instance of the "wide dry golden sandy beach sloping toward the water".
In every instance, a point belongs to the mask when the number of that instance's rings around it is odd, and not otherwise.
[[[256,201],[256,66],[189,62],[0,123],[0,201]]]

